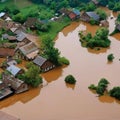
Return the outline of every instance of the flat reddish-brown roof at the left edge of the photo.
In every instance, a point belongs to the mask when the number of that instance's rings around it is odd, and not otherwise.
[[[14,49],[0,48],[0,57],[13,57],[14,54]]]

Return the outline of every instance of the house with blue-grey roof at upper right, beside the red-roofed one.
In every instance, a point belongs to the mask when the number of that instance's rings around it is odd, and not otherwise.
[[[91,19],[99,21],[100,16],[95,12],[81,12],[80,19],[85,22],[90,22]]]

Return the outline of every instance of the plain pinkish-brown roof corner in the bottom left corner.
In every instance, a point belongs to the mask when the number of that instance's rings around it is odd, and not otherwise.
[[[2,112],[2,111],[0,111],[0,119],[1,120],[20,120],[12,115]]]

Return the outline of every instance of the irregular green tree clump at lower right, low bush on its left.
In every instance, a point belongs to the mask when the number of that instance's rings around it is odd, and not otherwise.
[[[104,95],[104,92],[108,87],[108,84],[109,82],[105,78],[102,78],[100,79],[97,86],[95,86],[94,84],[91,84],[88,88],[91,90],[96,90],[96,93],[101,96],[101,95]]]

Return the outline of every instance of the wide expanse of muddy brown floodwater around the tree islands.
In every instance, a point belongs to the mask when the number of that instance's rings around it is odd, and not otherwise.
[[[110,36],[110,48],[100,51],[83,48],[79,42],[80,30],[94,34],[97,28],[74,22],[61,31],[55,46],[70,65],[42,74],[46,86],[7,98],[0,102],[0,109],[21,120],[120,120],[120,101],[107,95],[97,97],[88,89],[101,78],[109,80],[109,89],[120,86],[120,33]],[[110,53],[115,56],[113,63],[107,62]],[[75,86],[65,84],[68,74],[76,78]]]

